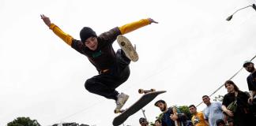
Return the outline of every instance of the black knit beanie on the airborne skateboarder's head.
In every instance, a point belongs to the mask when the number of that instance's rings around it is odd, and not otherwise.
[[[81,42],[84,43],[86,39],[90,38],[90,37],[96,37],[96,32],[92,30],[92,28],[89,27],[84,27],[81,29],[80,31],[80,39]]]

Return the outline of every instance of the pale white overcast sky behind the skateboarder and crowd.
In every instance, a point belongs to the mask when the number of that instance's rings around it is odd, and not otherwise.
[[[111,125],[115,102],[85,90],[97,74],[88,59],[62,42],[40,14],[79,38],[84,26],[97,34],[151,17],[151,24],[126,35],[137,45],[139,61],[130,64],[130,78],[117,90],[130,95],[124,108],[141,97],[137,89],[167,91],[145,106],[150,121],[160,114],[153,106],[198,105],[256,54],[254,9],[225,19],[254,0],[0,0],[0,125],[30,117],[43,126],[77,122]],[[114,43],[115,50],[119,49]],[[244,69],[233,79],[247,91]],[[213,95],[224,95],[223,88]],[[205,104],[198,106],[198,110]],[[141,111],[125,124],[139,125]]]

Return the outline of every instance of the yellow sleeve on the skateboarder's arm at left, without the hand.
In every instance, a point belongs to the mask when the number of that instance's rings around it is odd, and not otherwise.
[[[60,39],[62,39],[65,43],[71,46],[73,37],[71,35],[66,34],[62,29],[58,28],[57,25],[51,24],[50,29],[57,35]]]

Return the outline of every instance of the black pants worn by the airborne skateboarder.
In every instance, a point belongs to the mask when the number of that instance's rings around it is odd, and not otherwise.
[[[107,71],[86,80],[85,89],[96,95],[104,96],[109,99],[117,99],[119,87],[130,76],[130,59],[119,49],[116,52],[115,64]]]

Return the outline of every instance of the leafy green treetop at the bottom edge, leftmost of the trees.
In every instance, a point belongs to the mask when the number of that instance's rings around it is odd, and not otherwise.
[[[40,126],[37,120],[30,120],[29,117],[17,117],[17,119],[9,122],[7,126]]]

